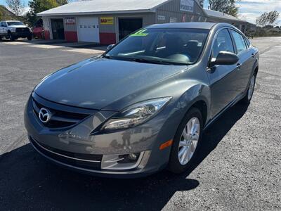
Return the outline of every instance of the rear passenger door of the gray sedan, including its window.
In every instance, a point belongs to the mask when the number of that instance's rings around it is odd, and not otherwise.
[[[239,57],[240,68],[239,74],[237,75],[237,85],[239,86],[240,92],[244,92],[247,89],[248,82],[251,76],[252,68],[254,66],[254,54],[247,45],[245,37],[237,32],[236,30],[230,30],[230,34],[233,37],[236,53]]]

